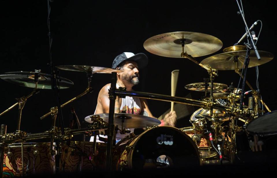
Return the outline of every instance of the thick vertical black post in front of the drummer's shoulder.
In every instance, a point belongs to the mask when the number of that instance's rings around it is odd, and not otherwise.
[[[116,80],[117,73],[112,72],[112,81],[111,88],[109,91],[110,107],[109,107],[109,122],[108,122],[108,142],[107,142],[107,151],[106,151],[106,169],[111,170],[112,166],[112,150],[113,150],[113,140],[114,140],[114,117],[115,117],[115,90],[116,90]]]

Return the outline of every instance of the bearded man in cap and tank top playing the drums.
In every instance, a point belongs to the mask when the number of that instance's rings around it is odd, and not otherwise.
[[[124,52],[115,57],[112,68],[123,70],[123,72],[117,73],[116,88],[126,87],[127,91],[133,91],[132,87],[139,84],[139,69],[146,67],[147,64],[148,58],[143,53],[138,53],[135,55],[134,53]],[[110,100],[108,90],[110,87],[111,84],[107,84],[100,90],[94,114],[109,113]],[[150,112],[145,99],[130,96],[126,96],[125,98],[116,98],[115,113],[139,114],[156,118]],[[174,127],[176,123],[176,117],[177,116],[175,111],[170,111],[165,115],[164,119],[161,121],[162,123],[160,126],[169,125]],[[134,129],[130,130],[131,132],[134,131]],[[125,136],[125,134],[117,134],[116,140],[120,140]],[[93,137],[91,138],[91,141],[93,141]]]

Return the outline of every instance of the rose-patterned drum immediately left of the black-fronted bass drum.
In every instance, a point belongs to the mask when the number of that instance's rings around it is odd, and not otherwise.
[[[71,141],[61,143],[60,170],[66,173],[103,169],[106,158],[106,143],[96,143],[96,153],[93,154],[93,142]],[[81,167],[83,155],[83,167]]]

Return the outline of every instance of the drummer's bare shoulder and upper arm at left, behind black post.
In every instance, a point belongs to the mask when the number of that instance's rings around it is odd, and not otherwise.
[[[105,85],[98,94],[97,107],[95,114],[109,113],[110,99],[109,99],[109,89],[111,84]],[[115,100],[115,113],[120,113],[121,98],[118,97]]]

